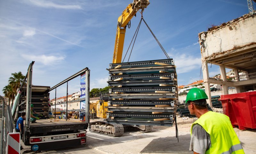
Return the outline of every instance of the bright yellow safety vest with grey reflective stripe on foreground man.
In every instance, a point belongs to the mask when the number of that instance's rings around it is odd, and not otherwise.
[[[236,136],[229,117],[225,114],[208,111],[201,115],[191,126],[191,136],[192,128],[195,124],[201,125],[210,134],[211,147],[205,153],[244,154],[242,145]]]

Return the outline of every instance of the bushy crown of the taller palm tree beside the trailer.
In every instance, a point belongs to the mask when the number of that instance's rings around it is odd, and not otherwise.
[[[13,77],[9,78],[9,84],[12,86],[12,90],[14,91],[15,95],[17,93],[17,89],[20,88],[20,84],[22,83],[23,79],[25,78],[21,72],[12,73]]]

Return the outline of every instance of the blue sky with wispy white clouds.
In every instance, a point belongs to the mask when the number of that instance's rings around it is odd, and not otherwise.
[[[25,75],[31,61],[35,61],[34,85],[52,87],[88,67],[90,88],[107,86],[106,68],[112,63],[117,18],[130,3],[132,0],[0,1],[0,95],[11,73]],[[174,59],[178,84],[187,85],[200,79],[198,33],[248,12],[246,0],[150,0],[143,17]],[[139,21],[137,13],[126,30],[123,57]],[[155,59],[166,57],[141,23],[130,62]],[[214,76],[219,67],[209,71]],[[68,85],[69,94],[79,91],[79,78]],[[66,85],[57,88],[57,97],[65,94]]]

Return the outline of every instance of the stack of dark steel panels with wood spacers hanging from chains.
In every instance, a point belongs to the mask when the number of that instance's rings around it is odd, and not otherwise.
[[[109,64],[107,122],[172,126],[177,74],[172,59]]]

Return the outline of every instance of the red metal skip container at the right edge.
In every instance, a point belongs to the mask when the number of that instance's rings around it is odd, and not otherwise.
[[[239,129],[256,128],[256,91],[221,95],[223,113]]]

